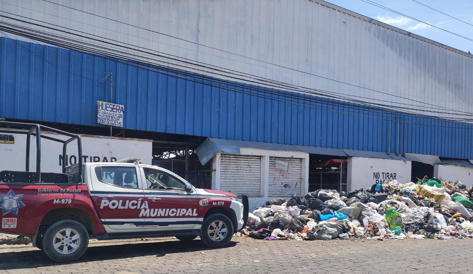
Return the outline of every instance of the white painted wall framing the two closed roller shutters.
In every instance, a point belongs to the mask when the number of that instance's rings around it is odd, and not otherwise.
[[[258,150],[250,148],[240,148],[242,155],[262,156],[261,159],[261,197],[248,197],[250,212],[256,206],[263,205],[266,201],[277,198],[268,197],[269,186],[269,158],[270,157],[284,157],[284,158],[300,158],[302,159],[302,196],[307,194],[309,190],[309,154],[300,151],[280,151],[280,150]],[[221,152],[217,153],[212,159],[212,189],[219,190],[220,188],[220,157]],[[278,197],[279,198],[279,197]],[[290,199],[290,197],[283,197]]]

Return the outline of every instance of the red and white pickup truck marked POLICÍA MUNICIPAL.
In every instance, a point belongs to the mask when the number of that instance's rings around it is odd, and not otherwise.
[[[28,132],[1,129],[0,133],[27,134],[60,141],[63,154],[70,141],[80,136],[37,124],[0,122],[0,125],[32,127]],[[41,130],[70,137],[62,140],[41,135]],[[194,188],[164,168],[140,164],[138,159],[82,163],[65,167],[63,173],[40,169],[40,139],[36,138],[36,172],[0,171],[1,232],[33,238],[58,262],[82,256],[89,237],[124,239],[175,236],[189,241],[200,236],[209,247],[224,247],[233,232],[245,226],[248,200],[234,194]]]

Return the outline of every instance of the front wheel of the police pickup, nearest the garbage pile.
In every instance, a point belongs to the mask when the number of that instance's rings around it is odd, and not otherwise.
[[[201,239],[208,247],[224,247],[233,237],[233,223],[223,214],[208,216],[201,230]]]

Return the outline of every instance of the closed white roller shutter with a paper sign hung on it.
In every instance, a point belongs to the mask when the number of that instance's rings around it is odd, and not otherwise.
[[[276,159],[289,162],[288,170],[276,168]],[[269,197],[291,197],[302,193],[302,159],[269,158]]]

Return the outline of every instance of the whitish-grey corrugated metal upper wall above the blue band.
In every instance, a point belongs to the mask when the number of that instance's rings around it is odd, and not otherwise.
[[[471,56],[321,0],[53,2],[6,0],[0,10],[370,102],[411,105],[412,99],[469,112],[473,99]],[[161,59],[154,60],[146,62]]]

